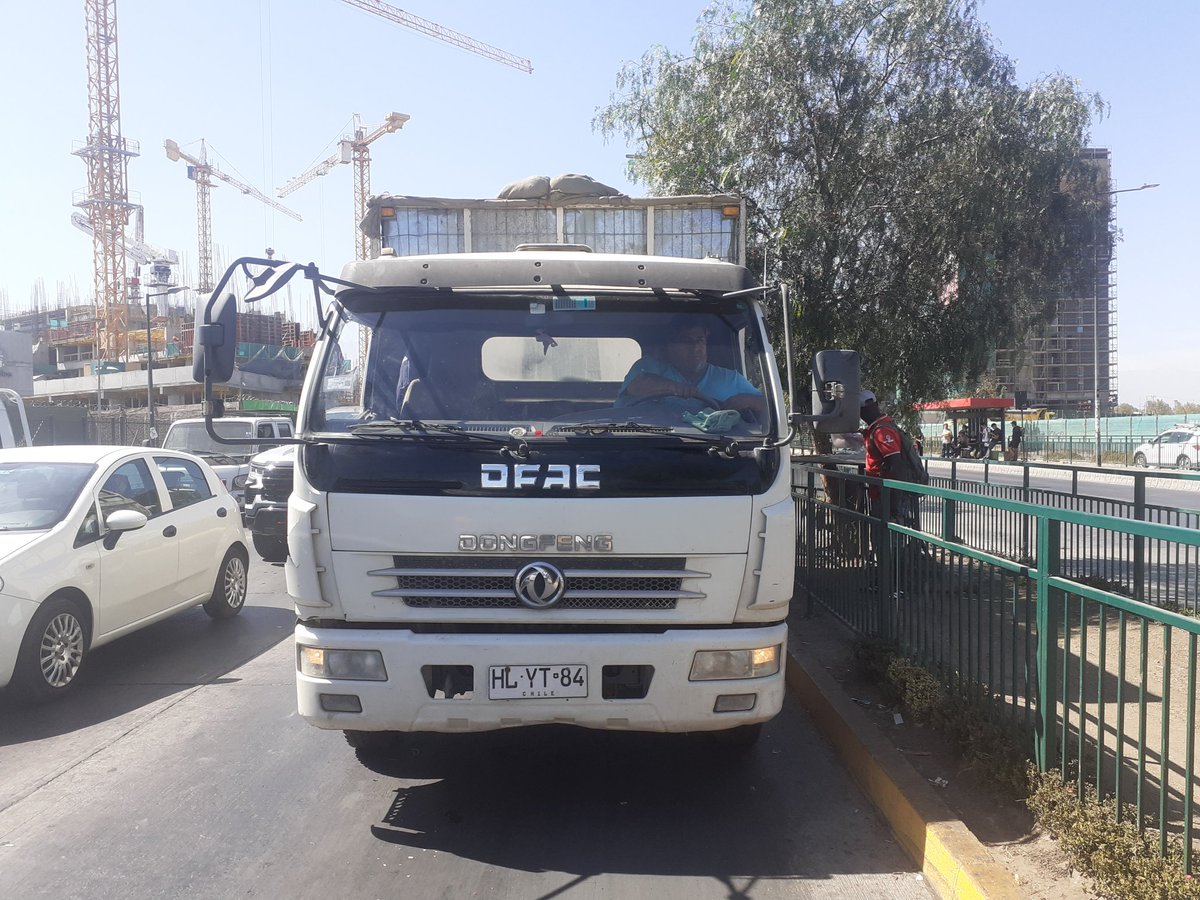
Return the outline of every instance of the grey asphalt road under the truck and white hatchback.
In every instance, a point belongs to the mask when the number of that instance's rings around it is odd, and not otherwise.
[[[282,570],[96,652],[82,690],[0,703],[13,898],[925,898],[788,698],[740,758],[695,736],[412,736],[361,758],[295,713]]]

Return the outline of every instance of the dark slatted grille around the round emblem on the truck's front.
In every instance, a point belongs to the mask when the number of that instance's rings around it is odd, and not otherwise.
[[[389,569],[370,575],[392,578],[395,587],[373,590],[419,610],[523,610],[514,590],[522,566],[534,557],[394,557]],[[706,595],[684,590],[684,578],[708,572],[684,569],[682,558],[556,558],[566,590],[557,610],[674,610],[679,600]]]

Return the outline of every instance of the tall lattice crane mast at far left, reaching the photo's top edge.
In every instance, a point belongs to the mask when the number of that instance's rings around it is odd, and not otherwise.
[[[88,143],[74,150],[74,155],[88,167],[88,187],[77,192],[74,205],[86,212],[91,226],[98,364],[116,359],[126,349],[125,226],[133,208],[127,181],[130,158],[138,156],[138,144],[121,137],[116,0],[85,0],[84,18],[88,28]]]

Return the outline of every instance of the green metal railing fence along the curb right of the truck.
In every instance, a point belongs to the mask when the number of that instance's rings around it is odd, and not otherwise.
[[[1032,730],[1039,768],[1061,769],[1080,797],[1094,785],[1190,872],[1200,620],[1171,607],[1195,610],[1200,598],[1194,576],[1166,576],[1172,560],[1195,566],[1200,532],[812,466],[794,473],[808,598]],[[864,504],[871,486],[880,496]],[[876,515],[896,497],[919,500],[920,528]],[[1025,535],[1022,554],[997,552]],[[1159,605],[1133,596],[1139,546],[1144,593]],[[1096,575],[1117,550],[1128,571]]]

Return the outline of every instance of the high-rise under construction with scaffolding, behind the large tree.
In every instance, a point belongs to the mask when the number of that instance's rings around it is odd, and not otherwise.
[[[1085,150],[1099,168],[1100,190],[1111,184],[1111,157],[1106,149]],[[1022,406],[1044,407],[1062,418],[1111,415],[1117,404],[1117,314],[1112,205],[1106,203],[1093,240],[1085,251],[1084,289],[1060,296],[1052,317],[1037,325],[1025,343],[996,352],[995,376],[1002,394],[1024,400]]]

